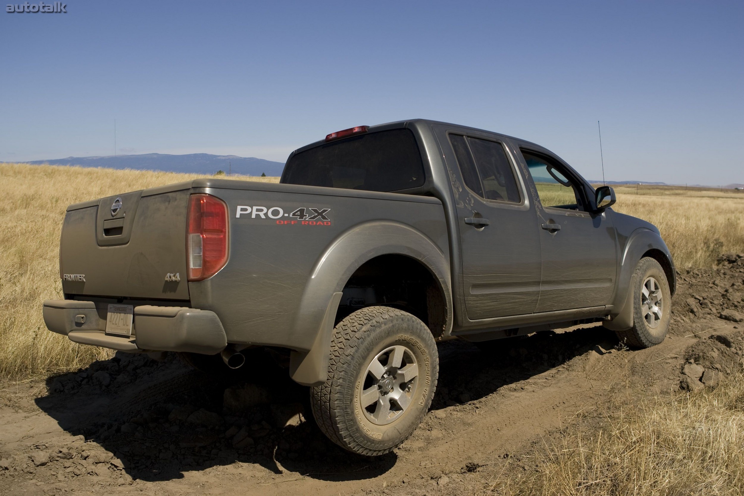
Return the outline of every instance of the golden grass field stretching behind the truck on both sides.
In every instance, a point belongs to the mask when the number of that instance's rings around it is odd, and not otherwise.
[[[74,370],[110,354],[48,332],[42,320],[42,301],[62,297],[57,257],[67,205],[198,177],[205,176],[0,164],[0,377]],[[744,251],[744,194],[617,190],[615,210],[657,225],[678,266],[710,266],[722,251]]]

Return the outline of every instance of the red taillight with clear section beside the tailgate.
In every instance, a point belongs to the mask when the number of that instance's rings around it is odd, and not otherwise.
[[[228,261],[228,207],[215,196],[191,195],[187,222],[188,280],[212,277]]]

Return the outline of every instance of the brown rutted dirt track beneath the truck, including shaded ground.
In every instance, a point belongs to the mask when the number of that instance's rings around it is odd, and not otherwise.
[[[681,374],[690,360],[713,374],[739,366],[744,324],[717,317],[743,310],[744,259],[724,265],[683,274],[670,338],[649,350],[626,350],[600,326],[502,340],[496,352],[440,344],[432,410],[377,459],[327,441],[302,416],[307,390],[270,370],[246,386],[173,358],[122,354],[46,383],[6,384],[0,492],[473,494],[580,411],[628,392],[694,387]]]

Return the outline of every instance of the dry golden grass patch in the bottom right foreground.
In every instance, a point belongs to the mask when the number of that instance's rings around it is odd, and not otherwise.
[[[741,372],[715,390],[607,405],[599,422],[596,428],[580,423],[547,441],[522,460],[533,470],[507,464],[484,494],[744,494]]]

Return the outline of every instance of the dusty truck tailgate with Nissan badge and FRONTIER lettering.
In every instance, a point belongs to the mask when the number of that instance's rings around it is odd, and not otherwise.
[[[174,186],[68,207],[60,240],[65,294],[188,300],[190,189]]]

